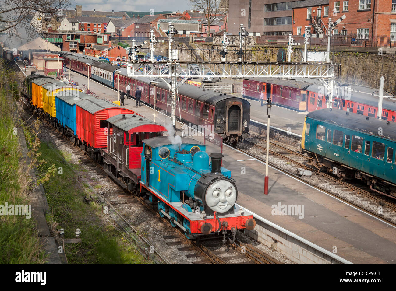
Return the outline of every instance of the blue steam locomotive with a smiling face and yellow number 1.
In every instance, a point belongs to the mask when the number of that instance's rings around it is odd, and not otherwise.
[[[210,154],[209,163],[205,150],[180,137],[143,140],[140,192],[189,238],[220,232],[225,238],[238,229],[253,229],[253,215],[235,207],[238,190],[231,171],[221,167],[223,155]]]

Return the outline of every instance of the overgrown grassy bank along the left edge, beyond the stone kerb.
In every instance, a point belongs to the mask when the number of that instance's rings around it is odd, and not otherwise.
[[[17,97],[19,86],[0,63],[0,205],[29,204],[27,190],[31,186],[30,167],[23,169],[18,127]],[[11,90],[9,89],[11,87]],[[5,213],[4,213],[5,214]],[[32,264],[45,262],[33,218],[0,215],[0,264]]]

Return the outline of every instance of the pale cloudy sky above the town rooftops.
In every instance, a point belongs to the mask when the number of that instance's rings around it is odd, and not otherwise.
[[[184,11],[190,10],[188,0],[71,0],[73,9],[82,5],[82,10],[97,11]]]

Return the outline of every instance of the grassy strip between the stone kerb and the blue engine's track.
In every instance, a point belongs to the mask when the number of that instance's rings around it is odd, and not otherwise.
[[[85,202],[84,197],[89,197],[92,190],[82,187],[74,173],[91,179],[89,173],[83,171],[81,165],[61,162],[70,160],[70,155],[56,150],[50,143],[42,143],[40,153],[46,157],[48,164],[55,164],[57,170],[55,176],[44,184],[51,210],[51,214],[47,215],[49,225],[59,222],[57,228],[65,229],[64,238],[75,238],[76,228],[81,230],[79,238],[82,243],[64,244],[69,264],[145,263],[144,258],[128,245],[114,225],[104,223],[106,219],[101,205]],[[59,167],[62,167],[61,171]],[[39,168],[42,174],[46,171],[44,166]],[[93,185],[93,188],[100,188],[100,185]]]

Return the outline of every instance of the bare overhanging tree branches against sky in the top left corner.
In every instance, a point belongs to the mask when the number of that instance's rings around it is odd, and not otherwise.
[[[36,35],[42,31],[31,25],[34,15],[63,17],[68,4],[69,0],[0,0],[0,33],[20,38],[23,30],[27,36]]]

